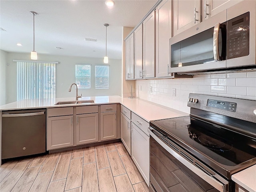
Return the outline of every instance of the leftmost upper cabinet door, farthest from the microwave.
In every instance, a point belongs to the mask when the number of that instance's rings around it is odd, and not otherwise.
[[[134,79],[134,34],[125,40],[125,79]]]

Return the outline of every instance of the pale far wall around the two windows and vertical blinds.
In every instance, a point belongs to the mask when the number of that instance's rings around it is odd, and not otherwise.
[[[16,62],[12,60],[30,60],[30,54],[8,53],[7,61],[10,65],[6,66],[6,103],[16,101]],[[95,64],[104,64],[103,58],[86,58],[72,56],[53,56],[38,54],[38,61],[58,61],[56,67],[56,97],[75,97],[76,90],[68,89],[75,82],[75,64],[92,64],[91,74],[94,76]],[[121,60],[109,59],[109,89],[95,89],[94,78],[91,80],[91,89],[79,89],[78,94],[82,96],[121,96]],[[2,65],[0,70],[2,71]],[[63,86],[62,86],[63,84]]]

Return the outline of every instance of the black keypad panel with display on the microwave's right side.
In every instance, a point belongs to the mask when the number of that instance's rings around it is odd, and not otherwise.
[[[249,55],[250,12],[227,22],[227,59]]]

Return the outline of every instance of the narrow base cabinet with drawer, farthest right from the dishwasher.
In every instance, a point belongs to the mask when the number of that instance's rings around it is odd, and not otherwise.
[[[100,140],[110,140],[116,137],[116,104],[101,105]]]

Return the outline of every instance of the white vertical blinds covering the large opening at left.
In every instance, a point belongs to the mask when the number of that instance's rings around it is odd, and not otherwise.
[[[17,61],[17,100],[55,98],[56,63]]]

